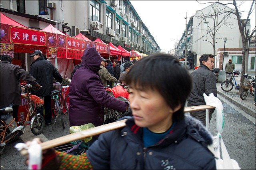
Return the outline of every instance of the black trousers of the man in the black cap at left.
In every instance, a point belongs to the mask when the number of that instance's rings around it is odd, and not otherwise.
[[[51,123],[52,119],[52,107],[51,107],[51,101],[52,98],[50,95],[43,96],[44,97],[44,106],[38,107],[36,113],[40,113],[44,117],[45,123]],[[45,115],[44,115],[45,111]]]

